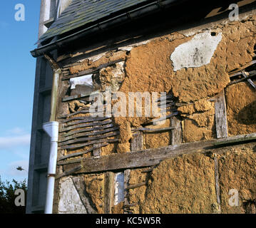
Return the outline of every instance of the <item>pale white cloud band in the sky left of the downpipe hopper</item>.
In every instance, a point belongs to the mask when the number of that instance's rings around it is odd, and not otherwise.
[[[14,146],[29,145],[30,144],[30,134],[0,137],[0,149],[11,148]]]

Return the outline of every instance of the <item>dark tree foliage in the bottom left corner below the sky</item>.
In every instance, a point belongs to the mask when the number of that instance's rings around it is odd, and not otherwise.
[[[26,180],[17,182],[12,180],[12,182],[6,181],[1,182],[0,177],[0,214],[25,214],[26,207],[17,207],[14,203],[17,195],[14,195],[15,190],[24,190],[26,199]]]

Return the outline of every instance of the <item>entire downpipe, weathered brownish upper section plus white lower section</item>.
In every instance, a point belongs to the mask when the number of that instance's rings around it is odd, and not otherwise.
[[[56,176],[56,163],[58,155],[58,122],[56,119],[56,108],[58,98],[58,79],[60,69],[53,68],[53,86],[51,90],[51,117],[50,122],[43,123],[43,130],[51,138],[51,149],[48,161],[48,174],[47,174],[47,189],[46,189],[46,205],[44,209],[45,214],[52,214],[53,212],[53,196],[54,196],[54,183]]]

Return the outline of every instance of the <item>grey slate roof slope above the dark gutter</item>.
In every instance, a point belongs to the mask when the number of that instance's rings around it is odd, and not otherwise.
[[[148,3],[149,0],[73,0],[61,16],[39,38],[39,43],[72,31],[81,26],[91,26],[104,18],[123,13],[123,10]]]

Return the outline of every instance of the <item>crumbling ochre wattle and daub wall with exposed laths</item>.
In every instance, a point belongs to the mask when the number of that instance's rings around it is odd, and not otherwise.
[[[215,102],[223,90],[228,136],[256,133],[256,89],[248,81],[233,83],[242,78],[237,72],[254,70],[255,38],[256,15],[251,13],[239,21],[226,19],[205,24],[89,58],[73,56],[78,61],[66,64],[61,78],[58,157],[66,158],[58,163],[59,174],[79,162],[83,166],[81,157],[216,139]],[[78,84],[71,89],[69,79],[85,75],[92,76],[93,86]],[[165,111],[169,118],[160,125],[153,125],[153,117],[92,120],[88,97],[74,96],[93,90],[105,92],[106,88],[126,95],[166,92],[169,106]],[[175,129],[136,131],[170,127]],[[134,145],[138,133],[142,140],[140,145]],[[256,143],[250,142],[208,153],[180,155],[150,168],[118,170],[118,174],[113,174],[113,190],[109,189],[111,185],[106,185],[111,180],[106,172],[69,173],[56,182],[55,212],[253,212],[255,152]],[[238,203],[230,203],[230,190],[237,190]],[[106,199],[111,191],[113,199]]]

